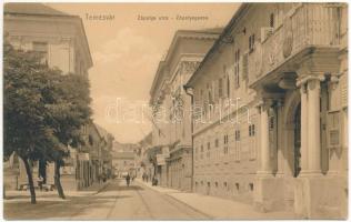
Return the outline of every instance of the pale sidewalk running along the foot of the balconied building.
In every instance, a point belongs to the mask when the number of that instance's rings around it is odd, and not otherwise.
[[[140,179],[137,182],[161,193],[164,193],[190,208],[200,211],[211,219],[215,220],[238,220],[238,219],[297,219],[293,212],[275,211],[275,212],[257,212],[252,205],[244,204],[238,201],[224,200],[210,195],[198,193],[182,192],[179,190],[152,186],[151,183],[142,182]]]

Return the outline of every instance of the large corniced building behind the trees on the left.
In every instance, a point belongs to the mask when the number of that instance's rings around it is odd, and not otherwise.
[[[92,59],[80,17],[67,14],[42,3],[6,3],[3,31],[6,39],[16,49],[41,53],[43,62],[60,69],[62,74],[76,73],[88,78]],[[68,165],[70,164],[73,163],[68,161]],[[27,183],[21,161],[18,168],[19,174],[14,175],[17,188],[20,183]],[[64,170],[68,172],[69,169],[67,167]],[[47,171],[48,182],[53,183],[52,164],[49,164]]]

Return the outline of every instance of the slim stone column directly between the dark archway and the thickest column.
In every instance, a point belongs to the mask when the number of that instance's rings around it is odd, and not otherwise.
[[[301,84],[301,174],[305,173],[308,168],[308,95],[307,85]]]

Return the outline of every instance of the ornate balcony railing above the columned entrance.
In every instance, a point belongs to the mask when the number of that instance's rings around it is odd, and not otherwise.
[[[249,54],[249,84],[308,47],[339,46],[339,21],[338,7],[300,3],[271,33],[262,28],[261,42],[257,42],[254,51]]]

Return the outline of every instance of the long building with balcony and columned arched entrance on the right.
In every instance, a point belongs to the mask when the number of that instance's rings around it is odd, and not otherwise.
[[[347,216],[347,4],[243,3],[187,83],[197,192]]]

